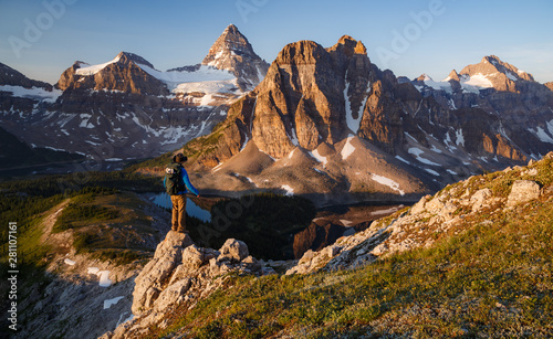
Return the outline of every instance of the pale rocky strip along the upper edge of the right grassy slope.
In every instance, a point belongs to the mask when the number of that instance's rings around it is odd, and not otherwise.
[[[434,197],[422,197],[408,210],[374,221],[371,226],[317,252],[307,251],[286,274],[307,274],[320,269],[349,269],[394,253],[428,247],[447,234],[463,232],[491,220],[482,215],[524,209],[539,200],[553,199],[553,183],[543,188],[539,178],[551,176],[553,152],[529,167],[517,167],[492,176],[471,177],[449,186]],[[505,177],[518,178],[510,187]],[[495,188],[490,189],[490,187]],[[502,222],[502,219],[497,221]]]

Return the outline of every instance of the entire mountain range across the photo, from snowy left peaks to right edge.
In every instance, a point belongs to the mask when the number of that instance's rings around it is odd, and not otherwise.
[[[553,150],[552,83],[494,55],[409,80],[344,35],[288,44],[269,66],[229,25],[201,64],[166,72],[127,52],[75,62],[54,86],[1,70],[0,121],[25,142],[126,159],[190,141],[213,192],[410,200]]]

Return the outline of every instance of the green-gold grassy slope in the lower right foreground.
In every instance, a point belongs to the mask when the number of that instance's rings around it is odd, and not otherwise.
[[[535,202],[357,271],[233,276],[158,337],[551,337],[552,220]]]

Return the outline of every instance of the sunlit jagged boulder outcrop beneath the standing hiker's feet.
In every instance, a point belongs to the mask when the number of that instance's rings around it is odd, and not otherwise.
[[[167,326],[164,320],[175,307],[194,308],[221,288],[231,272],[262,275],[263,268],[241,241],[229,239],[216,251],[196,246],[187,234],[168,232],[135,279],[134,319],[102,338],[136,338],[150,326]]]

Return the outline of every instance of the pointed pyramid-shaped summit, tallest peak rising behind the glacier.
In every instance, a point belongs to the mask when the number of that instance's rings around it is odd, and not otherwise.
[[[269,64],[253,52],[248,39],[233,24],[225,29],[201,64],[233,73],[243,92],[253,89],[269,68]]]

